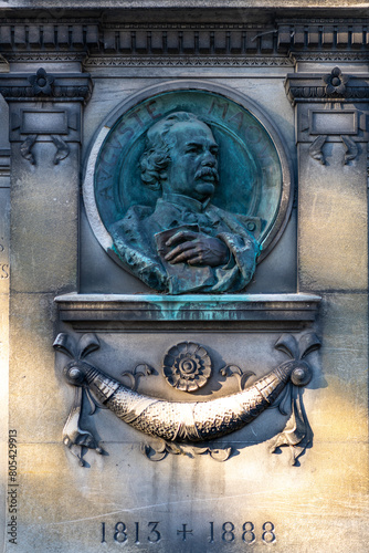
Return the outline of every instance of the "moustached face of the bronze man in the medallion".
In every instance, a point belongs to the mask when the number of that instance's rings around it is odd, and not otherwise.
[[[171,161],[162,190],[199,201],[210,198],[218,184],[218,145],[212,132],[201,122],[176,123],[170,133]]]

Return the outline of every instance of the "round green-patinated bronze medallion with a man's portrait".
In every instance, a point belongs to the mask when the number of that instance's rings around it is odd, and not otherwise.
[[[84,201],[96,238],[151,289],[244,290],[291,208],[273,125],[249,98],[201,82],[126,102],[92,147]]]

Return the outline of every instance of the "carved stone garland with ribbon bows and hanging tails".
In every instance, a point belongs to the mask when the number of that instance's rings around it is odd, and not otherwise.
[[[275,347],[286,353],[288,361],[239,393],[208,401],[189,403],[159,399],[131,389],[137,386],[141,372],[139,367],[144,367],[145,374],[150,373],[147,365],[137,366],[131,373],[131,387],[125,386],[85,361],[91,352],[99,347],[94,334],[84,334],[75,343],[70,335],[61,333],[54,347],[72,358],[63,368],[63,377],[75,386],[73,406],[63,430],[63,442],[78,458],[81,466],[84,466],[83,447],[95,449],[98,453],[104,452],[94,436],[80,426],[84,395],[91,403],[91,415],[96,406],[108,408],[137,430],[164,440],[162,448],[152,460],[162,459],[167,452],[183,453],[186,451],[182,448],[188,444],[203,446],[208,440],[229,435],[275,406],[283,415],[289,413],[289,418],[271,451],[281,446],[289,446],[292,465],[295,465],[313,439],[303,405],[302,388],[312,378],[312,368],[306,357],[319,346],[320,342],[314,333],[304,334],[298,341],[293,335],[283,334]],[[225,374],[230,367],[232,366],[221,371]],[[232,371],[229,372],[232,374]],[[241,380],[242,378],[240,383]],[[147,450],[144,452],[150,457]],[[198,452],[211,452],[211,449],[204,447]],[[219,451],[218,460],[225,460],[230,452]],[[212,457],[217,458],[217,451]]]

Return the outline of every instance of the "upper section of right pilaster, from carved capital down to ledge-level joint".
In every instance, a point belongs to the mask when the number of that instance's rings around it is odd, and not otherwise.
[[[369,75],[287,75],[296,112],[299,291],[367,291]]]

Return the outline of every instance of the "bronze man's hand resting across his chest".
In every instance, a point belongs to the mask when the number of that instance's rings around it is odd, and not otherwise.
[[[177,232],[169,238],[166,246],[176,246],[165,258],[172,264],[219,267],[228,263],[230,255],[228,247],[219,238],[207,237],[191,230]]]

